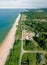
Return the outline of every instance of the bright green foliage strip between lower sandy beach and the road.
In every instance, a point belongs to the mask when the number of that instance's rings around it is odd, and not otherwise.
[[[20,57],[21,40],[16,40],[13,49],[10,51],[10,55],[5,65],[18,65]]]

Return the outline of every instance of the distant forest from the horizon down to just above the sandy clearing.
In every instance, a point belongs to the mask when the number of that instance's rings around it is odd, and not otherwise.
[[[47,32],[47,22],[41,22],[41,19],[46,20],[47,13],[44,10],[43,12],[36,12],[37,10],[28,10],[24,12],[27,17],[27,20],[24,21],[25,25],[31,27],[31,30],[38,32]],[[40,19],[40,21],[35,21],[34,19]]]

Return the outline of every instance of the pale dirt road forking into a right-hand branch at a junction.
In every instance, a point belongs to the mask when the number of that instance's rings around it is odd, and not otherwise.
[[[42,51],[28,51],[28,50],[24,50],[23,49],[23,37],[22,37],[22,43],[21,43],[21,54],[20,54],[20,60],[19,60],[19,65],[21,65],[21,61],[22,61],[22,56],[23,56],[23,54],[24,53],[47,53],[47,51],[44,51],[44,50],[42,50]]]

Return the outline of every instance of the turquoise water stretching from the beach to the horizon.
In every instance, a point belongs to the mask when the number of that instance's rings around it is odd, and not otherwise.
[[[0,9],[0,42],[4,40],[20,12],[20,9]]]

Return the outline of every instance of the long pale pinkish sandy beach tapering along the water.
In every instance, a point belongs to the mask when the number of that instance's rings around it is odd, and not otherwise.
[[[16,18],[15,23],[13,24],[12,28],[8,32],[5,40],[0,45],[0,65],[4,65],[7,59],[7,56],[10,52],[10,49],[13,47],[15,41],[15,34],[17,30],[17,25],[20,20],[21,15]]]

